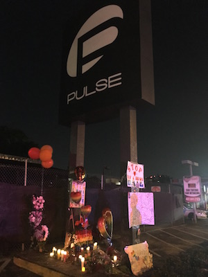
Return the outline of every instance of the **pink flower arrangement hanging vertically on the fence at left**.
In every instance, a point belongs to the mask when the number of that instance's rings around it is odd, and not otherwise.
[[[32,211],[28,217],[31,228],[33,229],[31,247],[38,247],[39,251],[44,250],[44,244],[46,243],[46,239],[49,236],[48,227],[46,225],[40,224],[42,222],[44,202],[45,200],[42,196],[35,197],[35,195],[33,195],[33,208],[35,211]]]

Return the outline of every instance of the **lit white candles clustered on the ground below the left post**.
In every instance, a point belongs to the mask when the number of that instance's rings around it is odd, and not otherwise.
[[[74,244],[71,243],[71,248],[74,247]],[[96,250],[98,248],[98,242],[94,242],[93,245],[93,250]],[[84,247],[81,247],[81,253],[84,253]],[[90,247],[86,248],[87,250],[87,255],[90,255]],[[69,252],[65,251],[65,250],[61,250],[61,249],[56,249],[55,247],[53,247],[52,252],[50,253],[50,257],[51,258],[55,258],[57,257],[58,260],[62,260],[63,262],[66,262],[67,258],[69,256]],[[81,269],[84,272],[85,271],[85,257],[83,257],[83,255],[80,254],[80,256],[78,257],[80,259],[81,262]]]

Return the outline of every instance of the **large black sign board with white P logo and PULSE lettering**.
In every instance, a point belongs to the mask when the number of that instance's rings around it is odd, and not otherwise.
[[[125,105],[154,104],[154,89],[141,89],[139,0],[70,2],[60,123],[96,122],[118,114]]]

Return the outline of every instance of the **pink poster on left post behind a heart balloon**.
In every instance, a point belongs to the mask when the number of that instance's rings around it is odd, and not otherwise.
[[[70,208],[80,208],[85,206],[86,182],[73,181],[71,185]]]

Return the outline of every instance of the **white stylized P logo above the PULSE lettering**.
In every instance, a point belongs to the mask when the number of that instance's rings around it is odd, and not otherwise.
[[[105,22],[114,17],[123,19],[123,11],[119,6],[109,5],[97,10],[78,31],[71,45],[67,59],[67,73],[71,77],[83,74],[101,60],[103,55],[90,57],[90,54],[112,44],[119,31],[116,26],[105,27]],[[103,29],[101,30],[101,24]],[[88,58],[87,58],[88,57]],[[81,64],[79,67],[78,64]]]

